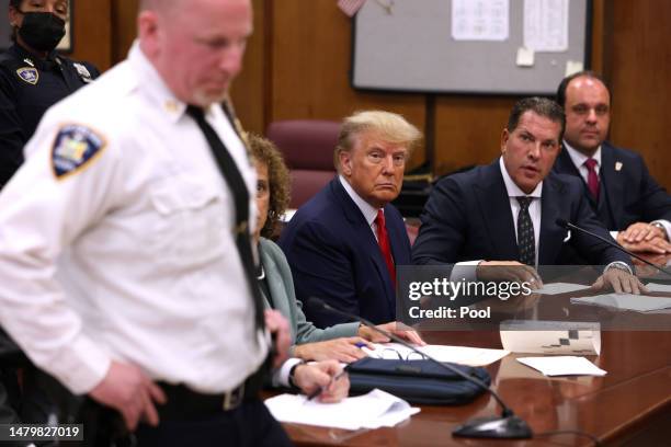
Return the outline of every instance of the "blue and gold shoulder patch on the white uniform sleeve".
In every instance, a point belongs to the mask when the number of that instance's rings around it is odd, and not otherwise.
[[[60,128],[52,148],[52,169],[61,180],[89,165],[105,148],[105,139],[91,128],[68,124]]]

